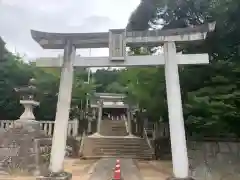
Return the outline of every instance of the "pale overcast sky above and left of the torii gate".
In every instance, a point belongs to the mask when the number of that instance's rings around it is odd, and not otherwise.
[[[30,29],[49,32],[98,32],[125,28],[140,0],[0,0],[0,36],[12,52],[27,59],[56,56],[32,40]],[[107,55],[107,49],[92,50]],[[89,50],[78,51],[88,56]]]

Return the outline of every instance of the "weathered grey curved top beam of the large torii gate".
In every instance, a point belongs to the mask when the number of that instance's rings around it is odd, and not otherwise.
[[[168,30],[126,31],[112,29],[98,33],[49,33],[31,30],[33,39],[44,49],[63,49],[66,40],[71,40],[76,48],[109,47],[113,39],[124,39],[125,45],[160,45],[166,41],[184,42],[205,39],[206,34],[215,29],[215,22],[195,27]],[[112,37],[112,38],[111,38]]]

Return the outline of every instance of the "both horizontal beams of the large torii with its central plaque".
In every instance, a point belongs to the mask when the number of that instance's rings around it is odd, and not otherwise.
[[[47,33],[31,31],[32,37],[44,49],[65,49],[67,42],[75,48],[109,48],[108,57],[75,57],[73,66],[81,67],[126,67],[126,66],[157,66],[165,63],[165,57],[159,56],[128,56],[126,46],[159,46],[166,42],[199,41],[215,29],[215,22],[195,27],[148,30],[130,32],[125,29],[112,29],[100,33]],[[177,55],[178,64],[209,63],[207,54]],[[37,60],[40,67],[61,67],[62,58]]]

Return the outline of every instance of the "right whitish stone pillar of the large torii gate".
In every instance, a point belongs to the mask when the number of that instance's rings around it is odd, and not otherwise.
[[[188,179],[188,156],[175,42],[164,44],[164,56],[173,174],[174,179]]]

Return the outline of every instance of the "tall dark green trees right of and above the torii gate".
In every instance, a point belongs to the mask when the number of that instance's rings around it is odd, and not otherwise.
[[[191,134],[239,135],[239,13],[238,0],[142,0],[130,17],[127,27],[131,30],[217,21],[216,31],[205,42],[179,47],[183,53],[207,52],[211,60],[207,66],[179,69],[185,122]]]

